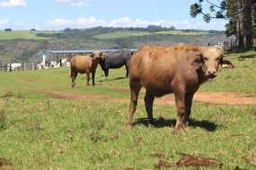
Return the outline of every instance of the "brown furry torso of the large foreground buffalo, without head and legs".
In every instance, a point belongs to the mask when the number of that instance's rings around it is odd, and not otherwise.
[[[178,81],[197,83],[192,82],[198,79],[196,68],[191,65],[197,52],[198,48],[185,46],[142,47],[130,59],[130,83],[139,83],[159,95],[171,93]]]

